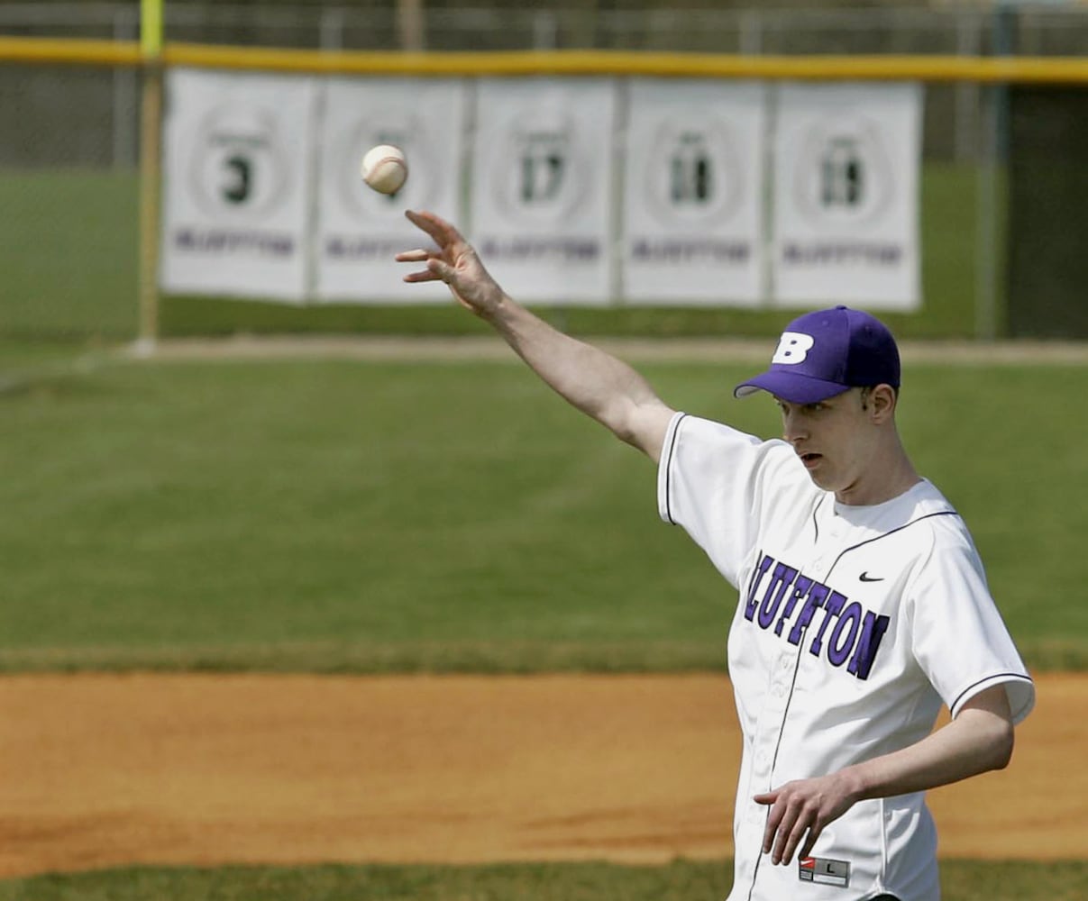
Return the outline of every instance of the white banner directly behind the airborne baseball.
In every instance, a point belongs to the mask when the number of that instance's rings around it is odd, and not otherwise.
[[[405,210],[454,223],[460,201],[467,87],[460,79],[337,78],[327,82],[321,129],[316,297],[321,301],[449,303],[443,284],[406,285],[394,254],[430,243]],[[408,180],[392,197],[359,177],[363,153],[401,148]],[[416,267],[418,268],[418,266]]]

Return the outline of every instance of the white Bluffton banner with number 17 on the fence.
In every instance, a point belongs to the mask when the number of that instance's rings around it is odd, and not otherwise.
[[[482,78],[477,89],[472,239],[524,301],[613,296],[610,78]]]

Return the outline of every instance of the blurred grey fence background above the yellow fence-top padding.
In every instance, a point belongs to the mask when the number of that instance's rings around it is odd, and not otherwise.
[[[175,3],[172,41],[344,50],[623,49],[713,53],[1022,53],[1077,55],[1088,10],[1076,3],[704,8],[416,0],[293,5]],[[135,38],[138,3],[3,3],[0,34]]]

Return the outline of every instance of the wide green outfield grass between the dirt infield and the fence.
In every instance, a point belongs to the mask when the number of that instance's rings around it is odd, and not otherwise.
[[[517,362],[48,364],[0,396],[0,667],[720,668],[655,470]],[[763,435],[751,366],[640,367]],[[915,366],[902,424],[1038,667],[1088,661],[1088,367]]]

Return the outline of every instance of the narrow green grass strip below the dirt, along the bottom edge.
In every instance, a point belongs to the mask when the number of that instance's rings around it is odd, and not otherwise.
[[[1088,862],[947,861],[944,901],[1081,901]],[[0,883],[0,901],[721,901],[728,862],[134,868]]]

